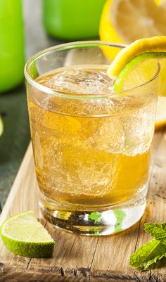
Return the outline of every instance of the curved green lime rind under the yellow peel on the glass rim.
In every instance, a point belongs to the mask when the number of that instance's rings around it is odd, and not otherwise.
[[[139,65],[139,63],[142,63],[145,60],[156,58],[156,57],[165,58],[166,52],[146,52],[130,60],[129,63],[127,63],[127,65],[125,65],[125,67],[121,70],[120,74],[115,80],[114,91],[122,91],[125,77],[127,77],[129,72],[131,72],[136,65]]]

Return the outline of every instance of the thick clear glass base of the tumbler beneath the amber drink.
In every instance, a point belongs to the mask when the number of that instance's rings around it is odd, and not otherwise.
[[[86,236],[110,235],[124,231],[139,221],[146,207],[145,190],[146,187],[137,198],[120,205],[84,211],[79,207],[77,211],[73,210],[68,204],[55,202],[40,193],[39,206],[44,218],[60,229]]]

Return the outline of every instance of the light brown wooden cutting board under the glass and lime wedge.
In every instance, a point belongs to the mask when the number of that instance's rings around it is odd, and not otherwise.
[[[39,212],[37,181],[31,145],[27,149],[0,223],[23,210],[34,210],[56,240],[53,258],[30,259],[8,252],[0,242],[0,281],[166,281],[166,259],[158,269],[140,272],[129,267],[129,256],[150,236],[143,231],[144,222],[166,222],[166,130],[155,134],[151,177],[146,212],[128,231],[117,236],[75,236],[44,221]]]

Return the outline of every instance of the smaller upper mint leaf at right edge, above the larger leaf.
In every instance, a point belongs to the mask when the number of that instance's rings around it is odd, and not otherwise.
[[[144,230],[162,244],[166,244],[166,223],[146,223]]]

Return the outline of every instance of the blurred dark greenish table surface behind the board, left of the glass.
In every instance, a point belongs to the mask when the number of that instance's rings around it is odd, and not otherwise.
[[[42,49],[59,44],[47,37],[41,23],[41,0],[24,0],[25,51],[30,58]],[[4,134],[0,138],[0,212],[30,142],[25,83],[0,95]]]

